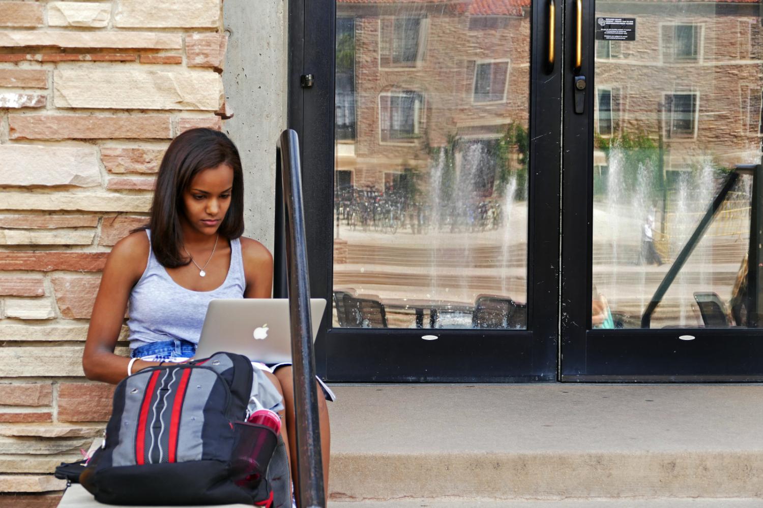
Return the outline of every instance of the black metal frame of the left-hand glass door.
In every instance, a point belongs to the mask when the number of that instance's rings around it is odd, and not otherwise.
[[[547,5],[547,4],[546,4]],[[533,7],[530,83],[528,330],[426,331],[331,328],[331,305],[316,342],[316,365],[335,382],[552,382],[559,343],[560,64],[546,67],[549,14]],[[332,301],[334,0],[290,0],[288,126],[301,139],[311,294]],[[555,24],[561,25],[561,10]],[[555,55],[561,41],[555,38]],[[303,88],[301,75],[314,85]],[[552,168],[550,171],[548,168]],[[276,235],[277,237],[279,234]],[[278,239],[276,259],[278,264]],[[281,248],[282,251],[282,248]],[[281,268],[282,270],[282,268]],[[278,271],[278,270],[277,270]],[[278,289],[275,296],[284,296]]]

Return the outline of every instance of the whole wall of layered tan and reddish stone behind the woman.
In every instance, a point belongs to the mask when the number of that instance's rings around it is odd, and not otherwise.
[[[221,4],[0,1],[0,506],[55,506],[53,467],[102,433],[112,388],[80,364],[99,272],[170,139],[221,129]]]

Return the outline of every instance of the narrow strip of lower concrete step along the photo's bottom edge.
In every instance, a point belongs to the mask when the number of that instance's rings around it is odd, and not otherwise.
[[[761,508],[763,499],[642,499],[642,500],[431,500],[350,501],[329,503],[329,508]]]

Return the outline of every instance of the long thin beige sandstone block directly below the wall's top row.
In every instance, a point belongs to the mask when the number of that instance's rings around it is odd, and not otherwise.
[[[5,2],[0,2],[0,4]],[[34,4],[32,4],[34,5]],[[0,16],[0,18],[5,19]],[[179,34],[154,32],[75,32],[61,30],[0,31],[0,47],[53,46],[130,50],[180,50]]]

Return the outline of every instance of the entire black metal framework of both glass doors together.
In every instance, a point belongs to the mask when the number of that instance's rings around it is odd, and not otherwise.
[[[439,340],[430,342],[417,338],[421,331],[329,329],[327,308],[316,343],[317,369],[324,378],[335,382],[763,381],[758,361],[763,357],[763,340],[755,329],[693,328],[696,339],[691,341],[678,339],[686,329],[591,330],[595,4],[581,0],[579,72],[573,71],[571,61],[576,5],[576,0],[568,0],[555,10],[557,57],[552,69],[546,65],[549,0],[533,2],[531,12],[529,329],[438,330]],[[311,292],[331,302],[335,2],[290,0],[288,18],[288,126],[301,139]],[[301,87],[304,74],[314,75],[312,88]],[[574,111],[576,74],[586,78],[583,114]],[[284,295],[278,290],[278,276],[275,294]]]

